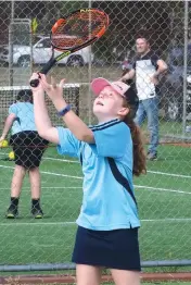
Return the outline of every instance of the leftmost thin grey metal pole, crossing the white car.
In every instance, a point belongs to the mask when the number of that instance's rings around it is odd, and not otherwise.
[[[9,85],[13,86],[13,20],[14,0],[11,0],[11,21],[9,26]]]

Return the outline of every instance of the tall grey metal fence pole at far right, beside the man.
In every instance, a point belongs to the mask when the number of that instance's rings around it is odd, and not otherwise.
[[[183,50],[183,114],[182,114],[182,137],[186,136],[187,121],[187,65],[188,65],[188,23],[189,1],[184,1],[184,50]]]

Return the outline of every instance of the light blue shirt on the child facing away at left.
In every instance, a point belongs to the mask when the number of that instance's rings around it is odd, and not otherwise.
[[[23,131],[37,131],[35,125],[34,106],[30,102],[17,102],[9,108],[9,114],[15,114],[11,132],[12,135]]]

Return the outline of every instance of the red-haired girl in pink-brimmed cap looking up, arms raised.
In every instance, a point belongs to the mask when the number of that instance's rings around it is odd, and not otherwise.
[[[73,252],[78,285],[99,285],[101,269],[111,270],[117,285],[140,284],[137,202],[132,174],[145,173],[140,131],[133,123],[138,97],[125,83],[97,78],[93,113],[88,127],[65,102],[63,84],[46,76],[33,88],[35,121],[41,137],[58,145],[60,154],[76,157],[84,172],[84,198]],[[30,79],[39,78],[33,74]],[[48,94],[67,128],[53,127],[44,102]]]

